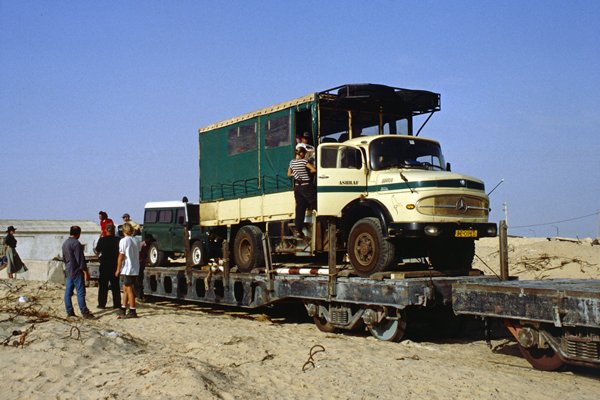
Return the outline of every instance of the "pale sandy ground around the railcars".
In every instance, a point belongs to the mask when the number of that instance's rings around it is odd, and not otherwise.
[[[600,278],[600,246],[591,241],[511,238],[510,248],[511,273],[521,279]],[[497,239],[479,242],[477,254],[475,267],[498,271]],[[513,341],[498,337],[491,350],[478,329],[450,339],[433,327],[386,343],[366,333],[320,332],[296,306],[248,312],[158,299],[140,305],[140,318],[118,320],[113,310],[95,310],[95,288],[87,298],[98,318],[67,320],[63,291],[57,284],[0,280],[1,398],[597,399],[600,393],[599,372],[533,370]],[[316,345],[324,351],[310,356]]]

